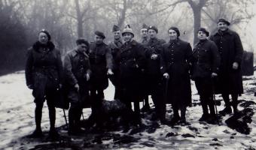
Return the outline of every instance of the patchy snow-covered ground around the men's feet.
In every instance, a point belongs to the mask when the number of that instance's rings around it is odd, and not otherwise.
[[[255,77],[256,75],[254,77],[246,77],[247,80],[243,82],[245,94],[239,97],[239,100],[256,102],[256,97],[254,97],[254,92],[256,91]],[[196,95],[197,90],[194,87],[194,83],[192,85],[193,102],[194,104],[199,103],[199,95]],[[114,87],[110,83],[108,89],[105,90],[105,98],[111,100],[113,97]],[[216,95],[216,99],[220,100],[221,97]],[[151,104],[151,107],[153,107],[153,104]],[[249,107],[256,110],[255,104]],[[222,110],[223,108],[224,104],[221,102],[218,110]],[[35,129],[34,109],[35,104],[33,103],[32,91],[26,88],[24,71],[0,77],[0,149],[30,149],[34,148],[35,145],[49,144],[49,142],[24,138],[24,136],[32,133]],[[243,107],[239,106],[239,110],[243,109]],[[170,110],[169,106],[167,110]],[[68,111],[66,111],[67,113]],[[89,115],[90,109],[84,109],[84,118],[87,118]],[[169,118],[169,115],[170,113],[167,113],[166,117]],[[187,109],[187,121],[190,123],[189,125],[169,127],[160,124],[153,131],[142,130],[142,132],[133,135],[130,132],[122,133],[121,131],[114,131],[112,132],[112,136],[133,136],[136,140],[131,141],[129,144],[118,145],[118,140],[110,137],[102,139],[102,144],[98,144],[98,147],[96,145],[94,147],[91,146],[90,149],[256,149],[256,115],[252,116],[252,122],[248,124],[248,127],[251,128],[251,133],[248,135],[227,127],[225,121],[232,115],[224,116],[221,119],[221,125],[200,123],[198,119],[201,115],[202,109],[199,105],[189,107]],[[143,119],[143,123],[151,124],[147,119]],[[56,127],[62,126],[63,124],[66,124],[63,118],[63,112],[60,109],[56,109]],[[44,131],[49,130],[46,104],[43,109],[41,126]],[[61,130],[60,132],[65,133],[66,130]],[[93,139],[95,135],[90,137]],[[72,142],[83,142],[83,146],[78,148],[82,149],[86,143],[86,139],[76,137],[72,138]],[[102,145],[103,147],[101,147]],[[66,149],[72,149],[72,147]]]

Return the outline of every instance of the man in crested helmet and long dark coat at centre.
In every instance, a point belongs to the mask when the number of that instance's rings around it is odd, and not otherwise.
[[[122,32],[125,43],[120,48],[120,83],[122,89],[121,101],[130,109],[134,102],[136,124],[141,124],[139,102],[143,100],[143,71],[145,69],[145,54],[142,44],[133,40],[134,34],[130,26]]]

